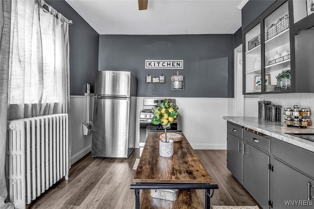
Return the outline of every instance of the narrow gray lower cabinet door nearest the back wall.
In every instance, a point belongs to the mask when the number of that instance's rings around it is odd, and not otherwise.
[[[242,143],[241,139],[227,135],[227,168],[242,184]]]

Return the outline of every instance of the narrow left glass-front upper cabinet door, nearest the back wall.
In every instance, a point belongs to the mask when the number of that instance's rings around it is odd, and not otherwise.
[[[245,93],[261,92],[261,23],[244,35]]]

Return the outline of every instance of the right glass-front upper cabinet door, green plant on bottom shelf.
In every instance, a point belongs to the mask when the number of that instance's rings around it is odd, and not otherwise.
[[[264,92],[291,89],[288,1],[264,19]]]

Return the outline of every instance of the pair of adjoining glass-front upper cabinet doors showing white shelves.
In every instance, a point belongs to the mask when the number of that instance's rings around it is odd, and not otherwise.
[[[289,29],[288,1],[276,1],[242,31],[243,93],[291,92]]]

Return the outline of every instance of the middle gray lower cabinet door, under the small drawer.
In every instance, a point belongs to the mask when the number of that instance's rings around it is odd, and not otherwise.
[[[248,143],[244,143],[243,153],[243,186],[263,209],[268,209],[269,155]]]

